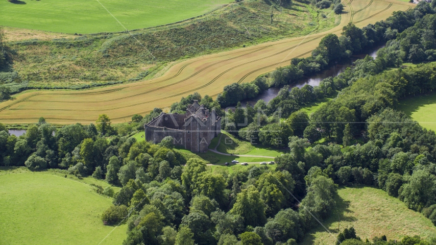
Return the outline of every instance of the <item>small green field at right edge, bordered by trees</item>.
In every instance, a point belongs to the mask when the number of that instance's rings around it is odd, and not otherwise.
[[[436,131],[436,93],[401,100],[397,109],[418,121],[422,127]]]

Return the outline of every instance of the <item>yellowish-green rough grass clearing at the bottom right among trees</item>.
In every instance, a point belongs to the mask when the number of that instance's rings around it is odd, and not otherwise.
[[[401,239],[405,235],[436,236],[436,227],[421,213],[407,209],[397,198],[373,187],[338,189],[336,198],[341,231],[353,226],[363,240],[386,235],[388,240]],[[332,234],[322,227],[306,235],[301,244],[334,244],[338,231],[338,216],[333,213],[322,222]]]

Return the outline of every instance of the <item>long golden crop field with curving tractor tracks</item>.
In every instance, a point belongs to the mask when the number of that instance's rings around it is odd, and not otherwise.
[[[185,60],[162,77],[148,81],[84,91],[26,91],[0,103],[0,120],[6,124],[30,123],[43,116],[55,124],[89,123],[105,113],[113,122],[130,121],[134,114],[148,113],[155,107],[168,108],[193,92],[216,97],[226,85],[250,82],[288,65],[292,58],[309,56],[322,37],[328,33],[340,35],[348,22],[361,28],[414,6],[398,0],[343,3],[346,8],[341,23],[329,31]]]

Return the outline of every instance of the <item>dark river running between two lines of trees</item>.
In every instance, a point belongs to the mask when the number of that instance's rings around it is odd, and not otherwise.
[[[344,59],[342,61],[336,62],[336,64],[331,65],[329,68],[327,68],[323,71],[320,71],[318,74],[315,74],[315,75],[310,76],[310,77],[304,77],[303,79],[301,79],[297,83],[289,84],[289,90],[291,90],[294,87],[302,88],[306,84],[308,84],[312,87],[318,86],[323,79],[328,78],[328,77],[336,77],[341,72],[343,72],[347,67],[350,67],[353,64],[353,62],[358,60],[358,59],[363,59],[367,55],[369,55],[373,58],[377,57],[377,51],[384,46],[385,45],[375,46],[375,47],[371,48],[370,50],[368,50],[367,52],[365,52],[364,54],[353,55],[350,59]],[[283,88],[283,87],[269,88],[269,89],[263,91],[262,93],[260,93],[259,95],[257,95],[257,97],[255,97],[254,99],[245,100],[245,101],[241,102],[241,105],[245,106],[245,105],[247,105],[247,103],[249,103],[250,105],[254,106],[254,104],[256,104],[256,102],[259,100],[263,100],[266,103],[268,103],[269,101],[274,99],[274,97],[277,96],[277,94],[279,93],[281,88]]]

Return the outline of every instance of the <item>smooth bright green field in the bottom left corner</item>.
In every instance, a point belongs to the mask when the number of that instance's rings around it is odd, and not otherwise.
[[[100,219],[112,199],[89,185],[108,184],[64,176],[0,168],[0,244],[122,244],[126,225],[114,229]]]

